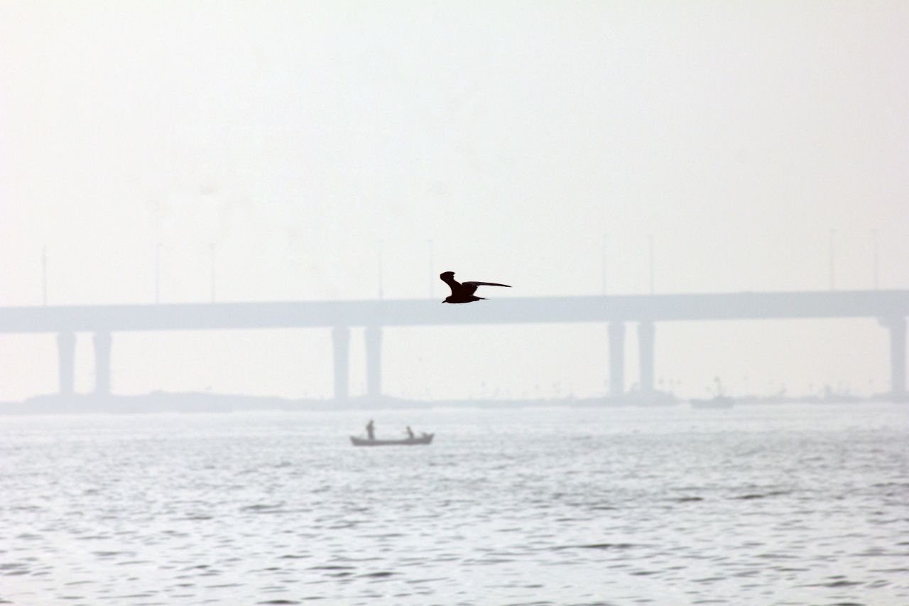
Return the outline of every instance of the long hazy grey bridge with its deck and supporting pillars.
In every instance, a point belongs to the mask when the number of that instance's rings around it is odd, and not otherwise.
[[[654,390],[654,324],[774,318],[877,318],[890,333],[891,393],[906,396],[909,290],[737,292],[599,297],[497,298],[469,305],[436,299],[195,303],[0,308],[0,333],[55,332],[59,390],[73,392],[75,332],[94,333],[95,392],[110,392],[113,333],[142,330],[332,328],[335,398],[346,399],[350,328],[365,327],[366,393],[382,393],[382,328],[470,324],[604,322],[609,325],[611,396],[624,393],[625,328],[637,328],[638,384]]]

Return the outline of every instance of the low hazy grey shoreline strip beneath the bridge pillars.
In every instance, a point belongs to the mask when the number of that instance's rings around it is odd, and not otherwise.
[[[45,414],[148,414],[160,412],[244,412],[256,410],[275,411],[339,411],[377,409],[440,409],[440,408],[484,408],[520,409],[546,407],[576,408],[664,408],[688,406],[689,399],[675,398],[672,394],[657,393],[651,399],[639,394],[615,398],[559,398],[559,399],[438,399],[415,400],[392,396],[372,398],[357,396],[337,399],[289,399],[274,396],[244,396],[201,392],[163,392],[138,395],[46,394],[21,401],[0,402],[0,415],[45,415]],[[862,404],[866,402],[893,401],[889,394],[859,398],[836,396],[830,398],[801,397],[740,397],[735,404],[773,405],[787,403],[804,404]]]

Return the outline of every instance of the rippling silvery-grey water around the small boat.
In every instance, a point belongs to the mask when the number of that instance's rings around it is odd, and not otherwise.
[[[0,417],[14,604],[909,604],[909,414]]]

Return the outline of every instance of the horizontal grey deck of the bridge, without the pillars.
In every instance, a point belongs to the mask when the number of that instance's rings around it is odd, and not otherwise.
[[[909,290],[601,297],[183,303],[0,308],[0,332],[204,330],[557,322],[909,316]]]

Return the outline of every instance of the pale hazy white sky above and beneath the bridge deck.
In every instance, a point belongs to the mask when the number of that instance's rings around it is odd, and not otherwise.
[[[153,301],[158,243],[163,302],[210,298],[212,251],[219,300],[373,298],[380,247],[386,298],[445,269],[596,294],[604,247],[608,291],[641,293],[650,235],[659,292],[826,289],[831,229],[837,288],[872,286],[874,230],[909,288],[907,31],[904,2],[3,2],[0,305],[41,304],[43,247],[50,304]],[[115,335],[113,385],[327,394],[329,343]],[[55,389],[53,335],[0,348],[0,399]],[[588,395],[606,351],[602,326],[395,329],[385,386]],[[884,389],[886,364],[874,320],[657,326],[691,393]]]

